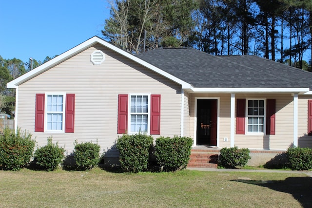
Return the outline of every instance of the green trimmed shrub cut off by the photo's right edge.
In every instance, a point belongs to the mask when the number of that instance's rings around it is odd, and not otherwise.
[[[289,148],[286,152],[288,167],[292,170],[312,169],[312,149],[310,148]]]

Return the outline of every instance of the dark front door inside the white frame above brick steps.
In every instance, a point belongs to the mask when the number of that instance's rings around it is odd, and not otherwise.
[[[197,100],[197,145],[216,146],[217,100]]]

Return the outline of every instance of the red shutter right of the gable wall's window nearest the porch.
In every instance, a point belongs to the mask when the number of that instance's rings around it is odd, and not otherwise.
[[[151,95],[151,134],[160,134],[160,95]]]

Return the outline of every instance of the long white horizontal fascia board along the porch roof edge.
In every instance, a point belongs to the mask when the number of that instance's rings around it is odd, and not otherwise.
[[[309,88],[191,88],[191,90],[194,93],[299,93],[305,95],[311,93]]]

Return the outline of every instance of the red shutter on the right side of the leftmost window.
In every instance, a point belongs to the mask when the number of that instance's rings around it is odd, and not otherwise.
[[[74,133],[75,128],[75,94],[66,94],[65,132]]]

